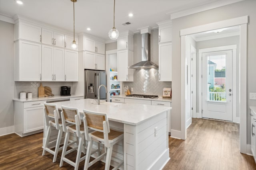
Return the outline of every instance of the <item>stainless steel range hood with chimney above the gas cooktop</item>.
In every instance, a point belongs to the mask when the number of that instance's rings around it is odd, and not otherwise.
[[[150,34],[143,33],[141,34],[142,37],[142,61],[139,63],[133,64],[128,68],[134,69],[142,69],[142,68],[158,68],[158,65],[150,61]]]

